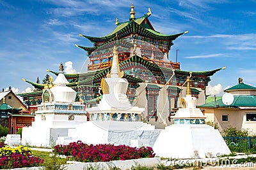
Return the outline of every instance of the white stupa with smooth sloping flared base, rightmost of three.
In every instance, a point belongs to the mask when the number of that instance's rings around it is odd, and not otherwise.
[[[205,124],[205,116],[196,108],[196,97],[191,97],[187,78],[186,97],[180,99],[180,106],[173,117],[174,124],[161,131],[154,143],[156,155],[169,158],[204,158],[217,154],[230,154],[220,132]]]

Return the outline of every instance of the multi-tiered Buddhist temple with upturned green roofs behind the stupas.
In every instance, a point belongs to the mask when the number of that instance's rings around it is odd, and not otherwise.
[[[86,105],[86,108],[97,106],[102,99],[104,90],[100,86],[102,78],[108,78],[113,60],[113,48],[116,46],[118,68],[129,85],[127,97],[132,106],[145,108],[141,117],[144,121],[164,128],[172,124],[171,116],[180,108],[179,99],[186,96],[186,78],[190,77],[191,96],[196,97],[198,104],[205,103],[205,88],[211,76],[225,67],[211,71],[183,71],[179,62],[168,59],[173,41],[179,36],[185,36],[188,31],[177,34],[157,32],[148,19],[147,14],[136,18],[133,4],[128,13],[129,20],[119,22],[116,18],[116,28],[106,36],[93,37],[80,34],[93,43],[93,46],[76,45],[86,52],[89,59],[87,71],[79,74],[64,74],[68,87],[76,90],[76,101]],[[47,72],[57,76],[58,72],[47,69]],[[29,108],[36,109],[36,104],[42,103],[42,92],[49,85],[34,83],[23,79],[35,87],[34,92],[19,94]],[[182,93],[182,91],[184,91]]]

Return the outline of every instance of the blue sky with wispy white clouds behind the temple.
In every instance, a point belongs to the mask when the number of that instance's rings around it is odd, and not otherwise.
[[[207,71],[226,66],[211,77],[218,93],[237,84],[256,87],[256,1],[182,0],[0,0],[0,87],[24,92],[28,83],[45,77],[45,69],[58,71],[60,62],[80,71],[86,52],[75,44],[92,46],[79,33],[104,36],[129,19],[131,3],[141,17],[150,7],[156,31],[177,34],[169,58],[182,70]],[[220,84],[220,85],[218,85]],[[28,90],[28,89],[27,89]]]

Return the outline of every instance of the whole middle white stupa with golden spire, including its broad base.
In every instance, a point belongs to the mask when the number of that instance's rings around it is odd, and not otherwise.
[[[141,122],[145,108],[131,106],[127,99],[128,81],[118,66],[118,53],[113,50],[111,71],[102,78],[102,99],[98,106],[88,108],[90,121],[70,129],[68,136],[88,144],[112,143],[115,145],[153,146],[161,130]],[[86,129],[86,131],[85,131]]]

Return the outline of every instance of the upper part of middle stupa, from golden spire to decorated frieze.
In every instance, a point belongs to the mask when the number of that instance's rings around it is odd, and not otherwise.
[[[116,47],[113,50],[113,61],[107,78],[102,78],[100,86],[103,92],[102,99],[97,107],[88,108],[90,120],[116,120],[136,122],[141,120],[141,113],[145,108],[131,106],[127,99],[128,81],[124,71],[120,71]]]

